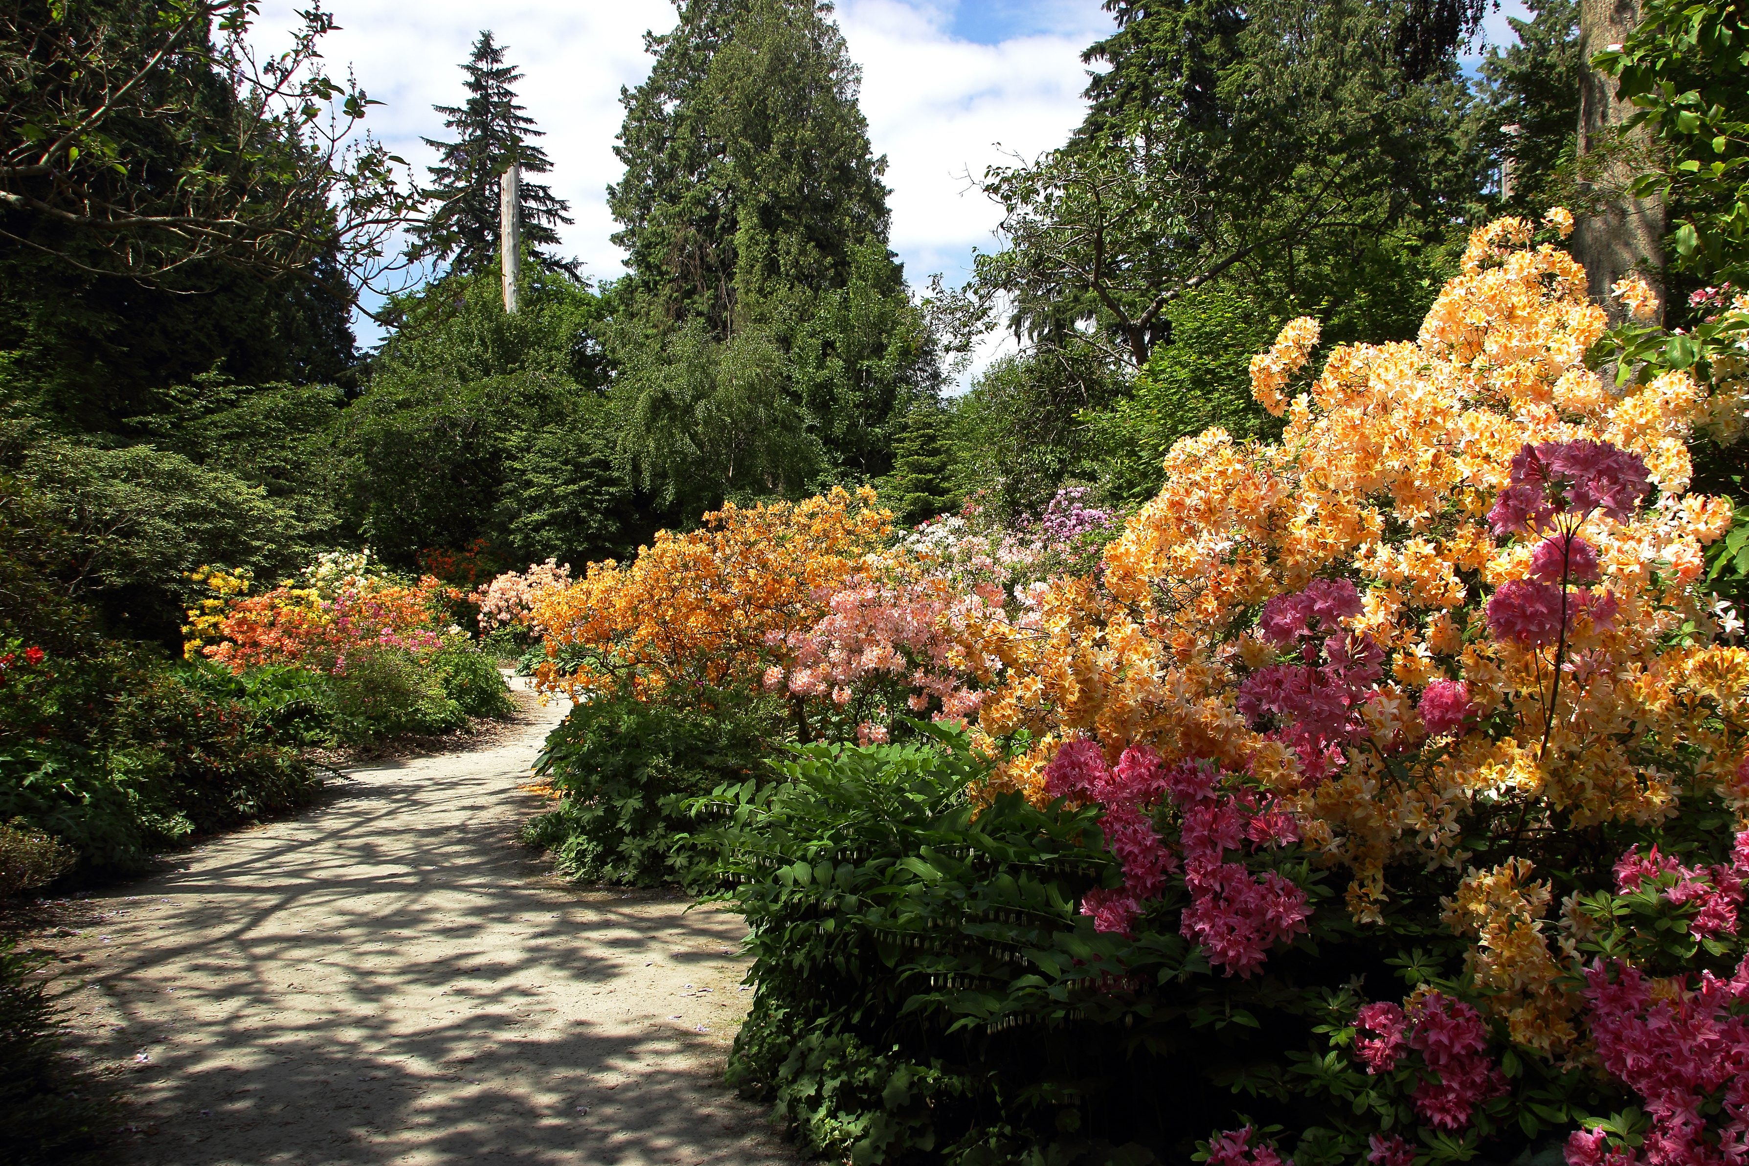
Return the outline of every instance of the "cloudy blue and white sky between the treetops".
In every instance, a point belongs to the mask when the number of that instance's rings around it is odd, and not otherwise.
[[[266,0],[264,45],[289,28],[304,0]],[[523,68],[521,98],[547,131],[554,192],[572,205],[568,253],[584,271],[614,278],[621,253],[605,189],[619,177],[612,156],[619,87],[649,72],[642,37],[673,26],[668,0],[329,0],[341,24],[327,45],[336,72],[348,65],[373,98],[371,131],[420,166],[442,136],[434,103],[456,103],[469,45],[490,26]],[[1488,17],[1488,38],[1509,37],[1509,0]],[[958,281],[974,248],[988,250],[997,210],[976,189],[986,166],[1034,157],[1079,124],[1086,84],[1081,51],[1111,30],[1098,0],[840,0],[838,21],[862,66],[862,108],[878,154],[888,161],[892,246],[913,287],[941,271]],[[360,341],[374,332],[359,329]],[[978,364],[995,355],[992,341]]]

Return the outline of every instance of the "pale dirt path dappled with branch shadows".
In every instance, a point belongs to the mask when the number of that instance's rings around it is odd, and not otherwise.
[[[516,844],[558,715],[355,769],[42,944],[68,1047],[126,1066],[124,1163],[794,1161],[721,1084],[740,920],[570,890]]]

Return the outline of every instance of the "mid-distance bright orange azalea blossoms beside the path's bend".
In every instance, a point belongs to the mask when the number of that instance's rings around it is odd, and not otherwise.
[[[577,582],[537,594],[532,619],[547,631],[540,687],[644,701],[752,689],[787,661],[785,638],[812,628],[826,594],[890,533],[892,516],[866,488],[726,505],[700,530],[661,531],[630,565],[591,563]]]

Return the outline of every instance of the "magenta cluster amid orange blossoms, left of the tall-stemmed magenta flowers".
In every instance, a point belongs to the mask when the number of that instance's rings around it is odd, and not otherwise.
[[[1343,764],[1341,746],[1366,736],[1361,710],[1376,694],[1385,654],[1369,636],[1348,636],[1341,621],[1361,614],[1361,594],[1347,579],[1313,580],[1305,591],[1280,594],[1263,607],[1258,631],[1279,647],[1300,645],[1305,664],[1268,664],[1245,677],[1237,708],[1258,724],[1273,717],[1273,736],[1300,755],[1308,781],[1320,781]],[[1319,659],[1319,633],[1324,664]]]

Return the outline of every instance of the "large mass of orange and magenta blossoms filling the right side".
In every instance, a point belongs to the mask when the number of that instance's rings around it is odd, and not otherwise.
[[[1081,911],[1172,927],[1230,975],[1307,928],[1462,939],[1459,965],[1355,1005],[1333,1040],[1366,1075],[1417,1052],[1415,1082],[1368,1096],[1404,1094],[1422,1129],[1602,1121],[1562,1077],[1586,1073],[1558,1068],[1595,1047],[1651,1133],[1585,1135],[1571,1161],[1712,1161],[1742,1145],[1737,1103],[1683,1100],[1749,1077],[1714,1058],[1653,1080],[1627,1051],[1677,1016],[1737,1024],[1730,984],[1749,982],[1749,965],[1712,981],[1693,961],[1744,954],[1742,874],[1709,858],[1732,848],[1709,823],[1749,816],[1749,652],[1698,586],[1732,507],[1686,493],[1684,444],[1737,390],[1600,381],[1581,357],[1602,309],[1532,233],[1478,231],[1415,343],[1340,348],[1293,399],[1317,325],[1287,325],[1252,365],[1289,418],[1279,446],[1179,442],[1097,580],[1048,584],[1032,622],[969,628],[964,650],[1006,666],[979,729],[999,755],[1020,745],[990,790],[1098,804],[1125,885]],[[1259,839],[1261,818],[1287,825]],[[1296,858],[1319,878],[1277,869]],[[1179,881],[1188,902],[1160,909]],[[1312,911],[1317,881],[1345,920]],[[1653,890],[1676,947],[1621,921]],[[1651,974],[1676,975],[1656,1007]],[[1502,1065],[1532,1058],[1508,1101]],[[1359,1122],[1341,1145],[1392,1129]]]

